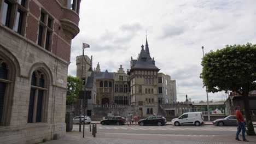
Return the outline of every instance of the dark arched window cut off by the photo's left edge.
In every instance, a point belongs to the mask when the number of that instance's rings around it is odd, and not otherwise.
[[[3,117],[5,88],[9,83],[7,81],[7,76],[8,76],[7,65],[5,63],[0,63],[0,123],[2,122],[1,119]]]

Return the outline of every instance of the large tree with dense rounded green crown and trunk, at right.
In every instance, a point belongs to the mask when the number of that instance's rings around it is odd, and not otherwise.
[[[207,92],[232,91],[242,95],[248,135],[255,135],[248,94],[256,88],[256,45],[226,45],[202,58],[203,85]]]

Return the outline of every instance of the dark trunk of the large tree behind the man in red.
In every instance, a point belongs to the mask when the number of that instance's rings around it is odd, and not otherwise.
[[[247,124],[247,135],[255,135],[255,131],[253,128],[252,117],[250,115],[250,106],[249,106],[249,92],[244,92],[243,97],[245,104],[245,116],[246,116],[246,124]]]

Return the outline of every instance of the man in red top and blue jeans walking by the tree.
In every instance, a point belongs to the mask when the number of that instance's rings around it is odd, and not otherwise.
[[[237,120],[237,132],[236,132],[236,140],[237,141],[241,141],[238,137],[238,135],[240,134],[241,130],[242,130],[242,137],[243,137],[243,141],[248,141],[245,139],[245,119],[243,118],[243,115],[241,113],[241,107],[240,106],[236,106],[236,120]]]

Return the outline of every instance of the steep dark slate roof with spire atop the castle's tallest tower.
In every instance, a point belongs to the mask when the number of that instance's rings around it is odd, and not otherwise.
[[[146,39],[146,50],[144,50],[144,46],[141,46],[141,53],[139,53],[139,57],[137,61],[133,61],[135,69],[158,69],[152,61],[150,57],[149,49],[148,49],[148,40]]]

